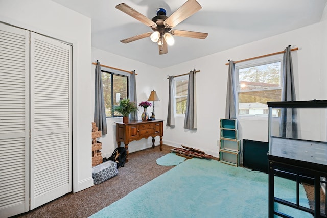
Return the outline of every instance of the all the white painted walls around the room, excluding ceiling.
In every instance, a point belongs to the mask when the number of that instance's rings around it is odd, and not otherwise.
[[[228,59],[241,60],[282,51],[289,44],[299,47],[292,52],[298,100],[327,99],[325,69],[327,67],[326,9],[322,22],[270,38],[245,44],[234,49],[185,62],[166,69],[122,58],[93,48],[91,50],[91,20],[50,0],[0,0],[0,21],[73,45],[73,181],[74,191],[92,185],[91,122],[94,102],[94,70],[91,62],[136,70],[137,100],[145,101],[155,89],[160,102],[155,103],[156,118],[166,119],[168,104],[167,75],[178,75],[196,68],[198,130],[183,129],[183,117],[176,117],[175,128],[164,123],[164,143],[185,144],[218,156],[219,119],[225,116]],[[221,42],[223,43],[223,42]],[[176,45],[178,46],[178,45]],[[203,48],[205,49],[205,48]],[[92,52],[91,52],[92,51]],[[298,72],[298,74],[296,74]],[[151,112],[152,108],[148,108]],[[108,135],[102,137],[103,153],[111,154],[115,143],[114,122],[108,119]],[[268,124],[264,121],[240,120],[241,139],[268,140]],[[156,137],[158,144],[158,137]],[[130,152],[151,146],[151,139],[133,141]]]

